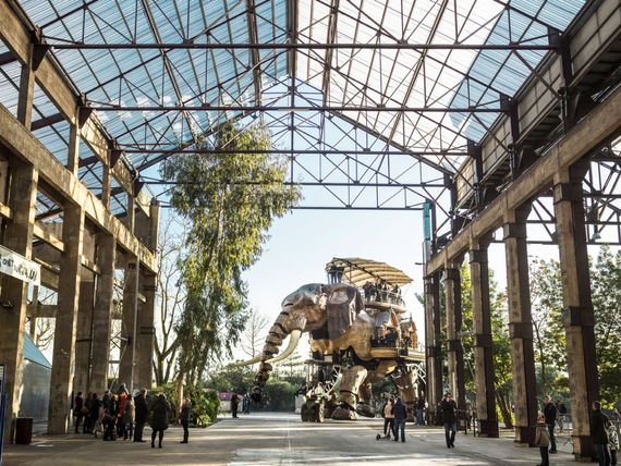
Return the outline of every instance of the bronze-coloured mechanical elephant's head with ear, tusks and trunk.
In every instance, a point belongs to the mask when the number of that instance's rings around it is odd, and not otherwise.
[[[269,379],[271,363],[289,357],[296,348],[303,332],[326,329],[329,338],[337,338],[351,326],[364,302],[355,286],[338,283],[324,285],[310,283],[301,286],[282,301],[282,310],[269,329],[263,352],[254,359],[240,363],[246,366],[260,363],[255,378],[253,400],[260,400],[260,392]],[[288,347],[278,356],[282,341],[290,335]]]

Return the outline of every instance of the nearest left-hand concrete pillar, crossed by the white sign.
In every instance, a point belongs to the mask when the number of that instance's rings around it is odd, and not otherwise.
[[[37,183],[38,171],[13,158],[8,200],[13,219],[7,222],[2,244],[28,259],[32,258],[33,252]],[[3,303],[11,303],[13,306],[12,309],[0,309],[0,361],[7,365],[4,441],[12,442],[22,395],[22,353],[28,286],[9,275],[1,275],[0,280],[0,297]]]

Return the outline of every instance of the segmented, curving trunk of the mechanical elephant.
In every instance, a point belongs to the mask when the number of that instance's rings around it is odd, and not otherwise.
[[[259,402],[261,398],[263,388],[267,383],[272,370],[270,363],[282,360],[295,351],[305,323],[306,318],[292,319],[289,312],[283,310],[280,312],[280,316],[278,316],[278,319],[276,319],[273,326],[271,326],[271,329],[269,329],[269,333],[265,339],[265,345],[260,355],[260,365],[255,376],[255,385],[253,387],[253,393],[251,395],[255,402]],[[289,334],[291,334],[289,346],[280,356],[273,357],[273,355],[280,351],[282,341],[287,339]]]

